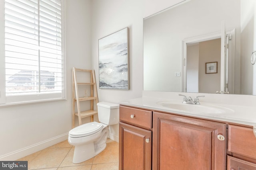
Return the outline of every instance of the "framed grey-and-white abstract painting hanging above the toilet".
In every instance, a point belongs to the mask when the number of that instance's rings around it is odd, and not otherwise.
[[[129,28],[98,40],[99,88],[129,90]]]

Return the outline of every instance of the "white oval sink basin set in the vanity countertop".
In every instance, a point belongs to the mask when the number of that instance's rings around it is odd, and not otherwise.
[[[189,111],[194,113],[204,113],[204,114],[223,114],[223,113],[232,113],[232,109],[226,107],[214,106],[214,105],[195,105],[195,104],[176,104],[176,103],[166,103],[158,102],[158,104],[163,107],[168,107],[170,109]]]

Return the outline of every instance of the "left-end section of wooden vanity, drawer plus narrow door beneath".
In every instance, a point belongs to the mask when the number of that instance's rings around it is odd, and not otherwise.
[[[152,111],[120,106],[119,170],[151,170]]]

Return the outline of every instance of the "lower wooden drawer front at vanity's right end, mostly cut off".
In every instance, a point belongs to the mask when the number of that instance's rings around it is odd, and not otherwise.
[[[232,156],[228,156],[227,162],[228,170],[255,170],[256,164],[251,162],[247,162],[238,158],[234,158]]]

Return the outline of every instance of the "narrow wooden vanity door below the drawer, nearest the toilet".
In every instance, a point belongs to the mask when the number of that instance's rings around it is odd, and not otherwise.
[[[151,170],[152,132],[119,123],[119,170]]]

